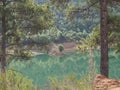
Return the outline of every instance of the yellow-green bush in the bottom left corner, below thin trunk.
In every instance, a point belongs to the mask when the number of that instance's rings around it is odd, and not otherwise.
[[[34,85],[30,79],[11,69],[6,71],[5,78],[0,76],[0,90],[34,90]]]

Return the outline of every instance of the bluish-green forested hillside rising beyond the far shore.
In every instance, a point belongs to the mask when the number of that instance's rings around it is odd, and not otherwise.
[[[36,0],[37,3],[47,3],[48,0]],[[72,0],[69,6],[69,10],[74,6],[85,6],[84,0]],[[93,27],[99,24],[99,14],[97,12],[89,12],[85,14],[74,14],[71,18],[68,18],[69,10],[57,10],[51,5],[52,12],[56,15],[54,18],[55,26],[58,29],[59,40],[74,40],[79,41],[81,38],[85,38],[91,33]],[[73,17],[73,18],[72,18]],[[72,21],[72,22],[71,22]],[[55,40],[56,41],[56,40]]]

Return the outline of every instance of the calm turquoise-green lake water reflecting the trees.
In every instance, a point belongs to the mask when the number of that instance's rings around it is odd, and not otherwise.
[[[95,51],[93,60],[99,73],[100,52]],[[109,53],[109,73],[111,78],[120,78],[120,55]],[[50,77],[62,79],[64,76],[75,73],[78,78],[88,73],[89,53],[72,53],[63,57],[38,55],[28,61],[13,60],[9,68],[14,68],[24,76],[33,80],[34,84],[44,86]]]

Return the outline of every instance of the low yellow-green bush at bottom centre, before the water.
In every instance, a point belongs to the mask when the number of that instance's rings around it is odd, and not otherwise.
[[[51,78],[52,90],[92,90],[89,87],[88,76],[84,75],[80,80],[77,79],[75,74],[69,74],[62,80]]]

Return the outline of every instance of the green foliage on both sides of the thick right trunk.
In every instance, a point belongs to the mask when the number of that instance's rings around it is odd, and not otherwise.
[[[115,52],[119,52],[120,48],[120,15],[109,15],[108,17],[108,41],[109,47],[115,48]],[[93,28],[92,33],[86,38],[83,39],[82,44],[88,45],[89,47],[98,47],[100,46],[100,26]]]

